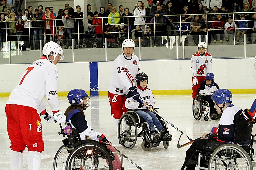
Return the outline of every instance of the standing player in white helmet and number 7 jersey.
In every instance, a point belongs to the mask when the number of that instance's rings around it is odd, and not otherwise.
[[[48,123],[54,119],[57,123],[66,122],[59,110],[57,91],[58,68],[56,64],[63,60],[62,48],[54,43],[46,43],[43,56],[30,64],[22,74],[18,85],[11,92],[5,112],[7,131],[11,140],[10,162],[12,170],[22,169],[22,152],[28,148],[28,169],[39,170],[41,152],[44,151],[41,117]],[[53,114],[46,110],[44,97]]]

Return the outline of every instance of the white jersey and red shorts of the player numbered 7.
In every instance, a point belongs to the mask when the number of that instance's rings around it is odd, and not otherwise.
[[[46,112],[45,95],[53,113],[59,111],[57,79],[57,66],[44,56],[30,64],[21,76],[5,108],[11,150],[22,153],[27,145],[28,151],[44,151],[38,113]]]

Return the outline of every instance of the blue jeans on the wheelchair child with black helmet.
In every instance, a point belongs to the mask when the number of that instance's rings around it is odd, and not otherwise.
[[[145,112],[142,110],[137,110],[136,112],[139,116],[143,117],[146,122],[148,122],[150,131],[155,131],[154,125],[156,125],[158,131],[163,129],[163,126],[153,112],[149,110],[146,110]]]

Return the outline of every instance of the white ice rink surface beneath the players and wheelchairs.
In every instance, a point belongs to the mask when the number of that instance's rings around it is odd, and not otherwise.
[[[191,96],[154,96],[156,107],[159,107],[159,114],[173,123],[177,128],[183,131],[191,139],[200,137],[204,132],[210,132],[211,128],[218,126],[218,121],[204,121],[203,117],[197,121],[193,118]],[[5,114],[5,104],[8,97],[0,98],[0,170],[11,169],[9,163],[10,140],[7,134],[7,123]],[[69,106],[66,97],[59,97],[60,110],[64,112]],[[235,106],[243,109],[250,108],[255,99],[255,94],[233,95]],[[50,110],[50,106],[47,106]],[[94,131],[102,132],[113,146],[124,153],[128,158],[141,166],[144,170],[179,170],[184,162],[186,150],[189,146],[177,149],[177,141],[180,133],[168,124],[172,141],[169,148],[164,149],[161,142],[158,147],[153,147],[150,151],[143,151],[141,148],[142,139],[138,138],[136,145],[131,150],[126,150],[118,143],[118,137],[114,130],[113,118],[107,96],[91,97],[91,106],[85,110],[85,116],[91,124]],[[64,125],[63,125],[64,126]],[[63,136],[58,135],[60,127],[58,124],[48,124],[42,120],[43,139],[45,151],[42,152],[41,170],[53,170],[54,155],[63,145]],[[253,128],[253,134],[256,133],[256,127]],[[180,144],[189,142],[182,138]],[[27,165],[28,149],[23,152],[23,168],[28,169]],[[124,160],[124,169],[137,169],[134,165]]]

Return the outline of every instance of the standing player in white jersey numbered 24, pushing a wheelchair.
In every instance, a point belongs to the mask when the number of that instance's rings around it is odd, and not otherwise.
[[[119,119],[127,111],[125,108],[127,93],[130,91],[132,98],[141,102],[140,94],[137,92],[137,88],[133,86],[135,76],[140,72],[139,59],[133,54],[134,49],[134,41],[125,39],[122,44],[123,53],[114,61],[113,73],[108,87],[108,99],[116,132]]]

